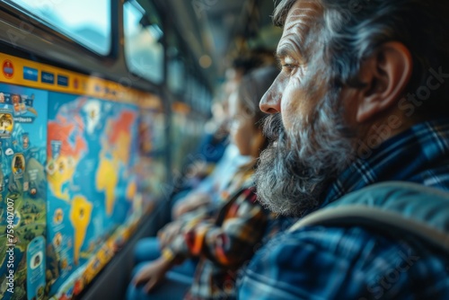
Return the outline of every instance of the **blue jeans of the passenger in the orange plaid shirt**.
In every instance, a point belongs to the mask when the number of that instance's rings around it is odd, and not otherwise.
[[[156,260],[161,256],[159,247],[159,241],[155,237],[142,239],[136,244],[135,261],[137,265],[133,269],[132,278],[145,267],[148,261]],[[196,262],[192,260],[186,260],[180,266],[173,267],[165,275],[166,280],[150,294],[145,293],[145,285],[135,287],[133,284],[129,284],[127,299],[182,299],[192,284],[195,268]]]

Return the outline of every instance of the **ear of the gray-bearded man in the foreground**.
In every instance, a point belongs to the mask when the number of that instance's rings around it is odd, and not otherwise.
[[[363,123],[392,107],[409,84],[413,60],[400,42],[383,44],[360,69],[365,84],[357,93],[357,122]]]

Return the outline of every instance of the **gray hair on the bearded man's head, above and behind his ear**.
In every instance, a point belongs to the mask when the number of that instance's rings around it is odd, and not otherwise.
[[[283,26],[297,0],[282,0],[273,21]],[[366,57],[383,43],[399,41],[413,58],[407,88],[416,93],[441,70],[449,73],[449,2],[442,0],[317,0],[323,9],[320,41],[332,87],[362,85],[357,75]],[[440,78],[441,79],[441,78]],[[432,92],[421,113],[445,113],[449,85]],[[419,111],[419,110],[417,110]]]

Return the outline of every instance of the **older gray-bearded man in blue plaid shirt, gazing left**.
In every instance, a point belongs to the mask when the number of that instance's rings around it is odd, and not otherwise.
[[[273,141],[256,174],[260,201],[306,218],[378,182],[449,190],[448,14],[441,0],[282,0],[282,71],[260,101]],[[427,216],[445,227],[440,212]],[[449,297],[447,255],[395,232],[295,226],[251,261],[240,297]]]

